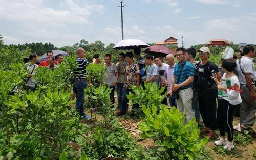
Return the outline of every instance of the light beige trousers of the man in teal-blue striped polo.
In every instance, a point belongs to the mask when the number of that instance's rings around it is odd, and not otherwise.
[[[180,112],[185,112],[185,121],[186,124],[193,117],[195,117],[194,110],[192,108],[192,98],[193,98],[193,90],[192,88],[187,88],[184,90],[179,90],[179,99],[176,99],[177,108]]]

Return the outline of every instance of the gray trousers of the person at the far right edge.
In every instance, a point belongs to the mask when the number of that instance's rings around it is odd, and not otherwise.
[[[253,127],[256,117],[256,100],[250,99],[250,90],[247,86],[241,85],[240,125]],[[254,88],[255,89],[255,88]]]

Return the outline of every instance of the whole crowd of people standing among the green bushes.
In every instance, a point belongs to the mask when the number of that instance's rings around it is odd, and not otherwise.
[[[113,104],[115,103],[114,93],[117,90],[118,109],[120,110],[117,115],[124,115],[128,109],[127,94],[133,93],[131,86],[139,88],[141,85],[145,88],[145,83],[155,83],[159,88],[164,88],[162,94],[167,95],[162,104],[168,105],[168,99],[171,106],[177,107],[181,113],[184,113],[184,123],[195,117],[199,124],[202,117],[205,125],[205,128],[201,130],[204,133],[203,136],[213,138],[216,135],[215,130],[219,129],[221,138],[215,141],[215,144],[224,145],[225,149],[231,150],[234,148],[232,121],[234,111],[239,106],[241,131],[248,130],[255,134],[253,130],[256,119],[254,47],[244,46],[243,56],[238,55],[237,61],[232,58],[223,59],[219,66],[209,61],[211,52],[208,47],[201,47],[198,50],[199,62],[195,60],[196,53],[195,48],[178,48],[175,55],[166,56],[167,64],[159,55],[153,57],[151,54],[146,54],[144,58],[141,57],[140,49],[134,49],[134,52],[126,54],[120,53],[117,64],[112,63],[110,54],[104,55],[106,67],[104,82],[111,89],[110,100]],[[76,50],[75,63],[78,67],[73,70],[73,91],[80,116],[90,118],[84,114],[83,109],[84,88],[92,85],[91,79],[87,78],[86,66],[89,62],[83,59],[84,55],[83,48]],[[175,57],[177,63],[175,63]],[[32,63],[29,70],[32,73],[29,76],[33,76],[37,56],[32,56],[30,59]],[[54,63],[60,62],[55,62],[49,56],[46,62],[42,62],[39,66],[49,65],[48,68],[51,69],[54,67],[50,64]],[[95,54],[92,63],[101,64],[100,55]],[[132,106],[131,116],[134,116],[134,109],[138,107],[138,104]],[[228,134],[227,139],[225,132]]]

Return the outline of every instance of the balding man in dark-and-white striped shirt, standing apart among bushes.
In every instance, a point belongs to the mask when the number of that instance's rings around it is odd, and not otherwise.
[[[86,66],[89,64],[87,60],[82,59],[85,54],[85,50],[81,47],[76,50],[76,61],[78,64],[77,68],[73,70],[75,77],[74,90],[77,91],[76,95],[76,109],[78,110],[82,118],[89,119],[90,117],[84,114],[83,104],[84,104],[84,88],[87,87],[86,78]],[[90,80],[90,79],[89,79]],[[89,82],[90,83],[90,82]]]

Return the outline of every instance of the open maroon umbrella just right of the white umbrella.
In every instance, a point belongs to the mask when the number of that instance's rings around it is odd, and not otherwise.
[[[169,48],[161,45],[153,45],[150,47],[147,47],[144,50],[145,53],[152,54],[152,55],[161,55],[162,57],[166,57],[168,54],[174,55],[174,52],[170,50]]]

